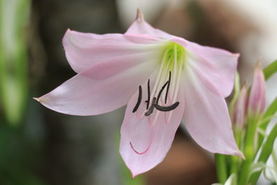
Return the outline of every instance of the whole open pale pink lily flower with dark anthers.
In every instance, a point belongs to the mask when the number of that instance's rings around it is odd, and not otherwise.
[[[224,100],[233,89],[238,54],[152,28],[139,10],[125,34],[67,30],[63,45],[78,74],[36,100],[81,116],[127,104],[120,155],[132,177],[166,157],[182,120],[202,148],[242,156]]]

